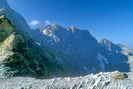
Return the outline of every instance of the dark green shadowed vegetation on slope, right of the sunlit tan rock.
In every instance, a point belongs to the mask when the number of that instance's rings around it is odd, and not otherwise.
[[[16,35],[13,45],[13,55],[5,60],[5,66],[10,67],[17,75],[50,76],[50,72],[62,69],[57,63],[52,63],[42,55],[42,51],[32,40],[24,41]],[[45,54],[45,53],[44,53]]]

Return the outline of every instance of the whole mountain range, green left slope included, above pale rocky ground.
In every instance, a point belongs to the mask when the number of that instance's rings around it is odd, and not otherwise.
[[[132,72],[133,51],[98,41],[88,30],[50,24],[31,29],[25,19],[0,1],[0,78],[81,76]],[[123,74],[124,75],[124,74]]]

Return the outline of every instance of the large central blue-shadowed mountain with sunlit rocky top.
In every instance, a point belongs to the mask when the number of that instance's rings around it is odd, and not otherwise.
[[[73,65],[75,70],[86,73],[101,70],[99,61],[96,60],[99,46],[88,31],[52,24],[44,27],[42,33],[45,37],[43,45],[67,56],[66,61]]]

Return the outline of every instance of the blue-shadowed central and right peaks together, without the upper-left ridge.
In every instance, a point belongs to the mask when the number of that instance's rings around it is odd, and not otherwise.
[[[130,71],[129,56],[126,55],[127,50],[106,39],[97,42],[86,30],[73,26],[64,28],[58,24],[52,24],[41,28],[41,30],[36,30],[35,33],[36,37],[39,37],[36,41],[42,47],[45,45],[53,49],[55,53],[57,52],[57,55],[61,53],[63,56],[67,56],[65,59],[67,63],[80,69],[79,71],[82,73]],[[58,59],[62,59],[63,63],[64,58]],[[60,60],[58,61],[60,62]]]

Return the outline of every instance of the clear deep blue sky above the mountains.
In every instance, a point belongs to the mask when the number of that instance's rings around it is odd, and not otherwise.
[[[133,0],[8,0],[28,23],[89,29],[97,38],[133,48]],[[34,22],[35,23],[35,22]],[[37,22],[36,22],[37,23]]]

